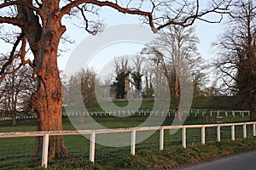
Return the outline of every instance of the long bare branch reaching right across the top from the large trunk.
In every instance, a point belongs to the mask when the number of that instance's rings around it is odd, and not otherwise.
[[[137,8],[129,8],[130,6],[129,4],[131,3],[131,1],[129,1],[125,7],[121,7],[117,2],[112,3],[108,1],[102,2],[102,1],[95,1],[95,0],[80,0],[80,1],[71,1],[66,6],[61,8],[61,15],[68,14],[73,7],[79,6],[82,3],[94,4],[99,7],[108,6],[118,10],[120,13],[123,13],[123,14],[137,14],[137,15],[146,17],[149,26],[151,26],[152,30],[156,32],[170,25],[192,26],[195,23],[195,20],[197,19],[206,21],[208,23],[219,23],[221,22],[221,20],[223,20],[222,14],[228,13],[230,2],[231,0],[228,2],[220,2],[220,3],[213,2],[214,5],[212,5],[212,8],[209,8],[205,11],[200,12],[200,2],[199,0],[196,0],[195,8],[192,8],[191,11],[185,12],[185,8],[189,7],[189,5],[192,5],[186,1],[184,3],[179,3],[175,1],[175,3],[181,6],[180,8],[177,9],[177,11],[174,11],[172,7],[168,7],[167,3],[165,5],[164,4],[165,2],[162,2],[163,4],[162,3],[156,4],[154,1],[151,1],[152,10],[148,12],[148,11],[140,10],[142,4]],[[224,6],[224,4],[226,4],[226,6]],[[154,18],[153,16],[154,11],[156,10],[156,8],[158,7],[160,8],[161,6],[167,8],[169,11],[172,12],[172,14],[175,14],[175,16],[169,15],[168,14],[169,12],[166,11],[166,15],[163,15],[162,17]],[[158,9],[158,10],[161,10],[161,9]],[[195,12],[193,12],[192,10],[194,10]],[[183,14],[188,14],[188,16],[182,17]],[[221,16],[219,20],[212,21],[212,20],[206,20],[202,18],[206,14],[220,14]],[[162,23],[154,23],[154,21],[157,21],[157,20],[159,21],[159,19],[162,19]],[[154,24],[158,25],[158,27],[155,27]]]

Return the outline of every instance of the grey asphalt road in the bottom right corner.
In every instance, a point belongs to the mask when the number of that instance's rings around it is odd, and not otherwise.
[[[179,170],[256,170],[256,151],[199,163]]]

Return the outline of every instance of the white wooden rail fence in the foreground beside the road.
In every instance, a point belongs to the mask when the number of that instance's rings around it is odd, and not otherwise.
[[[160,130],[160,150],[164,149],[164,131],[170,129],[182,129],[182,145],[186,148],[186,129],[201,128],[201,144],[206,144],[206,128],[217,128],[217,140],[221,140],[221,127],[231,127],[230,139],[236,139],[236,126],[243,127],[243,138],[247,138],[247,125],[253,125],[253,136],[256,136],[255,125],[256,122],[239,122],[239,123],[224,123],[224,124],[207,124],[207,125],[183,125],[183,126],[164,126],[164,127],[130,127],[130,128],[116,128],[116,129],[97,129],[97,130],[79,130],[79,131],[47,131],[47,132],[22,132],[22,133],[0,133],[0,138],[16,138],[16,137],[31,137],[44,136],[42,167],[47,167],[48,164],[48,149],[49,136],[55,135],[74,135],[74,134],[90,134],[90,161],[95,161],[96,149],[96,134],[100,133],[127,133],[131,132],[131,155],[135,155],[136,148],[136,133],[140,131],[155,131]]]

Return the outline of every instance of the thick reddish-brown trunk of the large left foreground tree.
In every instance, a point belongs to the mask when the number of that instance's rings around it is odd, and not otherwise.
[[[45,5],[45,6],[44,6]],[[38,16],[20,9],[20,17],[31,25],[25,33],[34,55],[34,66],[38,78],[38,90],[32,94],[32,111],[38,112],[38,131],[62,130],[62,94],[61,79],[57,67],[57,52],[62,34],[66,27],[61,25],[61,16],[58,15],[58,1],[44,3],[41,22]],[[26,11],[29,9],[26,8]],[[29,15],[29,16],[27,16]],[[31,159],[42,156],[43,138],[38,137]],[[67,156],[68,151],[62,136],[49,137],[49,161]]]

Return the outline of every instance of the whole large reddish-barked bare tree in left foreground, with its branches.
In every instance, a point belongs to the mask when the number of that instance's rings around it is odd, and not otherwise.
[[[203,1],[205,2],[205,1]],[[38,112],[38,130],[58,131],[61,124],[61,80],[57,67],[57,52],[61,37],[66,31],[61,20],[64,15],[71,18],[81,14],[84,29],[96,34],[102,25],[92,14],[98,14],[101,7],[113,8],[123,14],[143,16],[153,31],[169,25],[191,26],[196,19],[205,20],[206,14],[223,14],[228,10],[230,1],[211,0],[207,8],[196,1],[101,1],[101,0],[4,0],[0,3],[0,23],[20,28],[14,48],[22,43],[32,51],[33,61],[25,59],[25,48],[20,50],[22,64],[34,68],[38,78],[38,90],[32,95],[32,109]],[[220,17],[220,20],[222,18]],[[217,20],[219,21],[219,20]],[[209,21],[216,22],[216,20]],[[7,25],[4,25],[7,26]],[[9,61],[1,66],[0,74],[17,57],[10,53]],[[39,141],[38,139],[37,141]],[[38,142],[34,154],[39,151]],[[61,136],[49,139],[49,161],[56,156],[67,155],[67,148]]]

